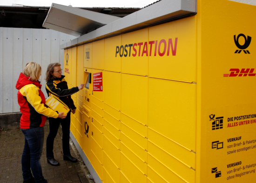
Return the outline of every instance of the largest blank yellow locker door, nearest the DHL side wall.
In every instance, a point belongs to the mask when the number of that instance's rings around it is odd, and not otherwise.
[[[148,127],[195,151],[196,85],[155,78],[148,85]]]

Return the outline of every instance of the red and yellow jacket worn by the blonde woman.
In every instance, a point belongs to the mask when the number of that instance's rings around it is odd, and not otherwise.
[[[58,118],[59,114],[45,107],[45,96],[39,82],[30,81],[29,77],[20,73],[16,83],[18,103],[20,105],[20,128],[29,129],[44,126],[46,116]]]

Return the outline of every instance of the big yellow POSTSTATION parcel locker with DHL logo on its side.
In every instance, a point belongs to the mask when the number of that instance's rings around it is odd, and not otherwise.
[[[162,0],[61,45],[95,183],[256,182],[255,22],[246,3]]]

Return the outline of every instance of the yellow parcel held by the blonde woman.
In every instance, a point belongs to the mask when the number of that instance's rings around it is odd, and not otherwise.
[[[58,113],[64,113],[64,115],[70,111],[67,105],[54,95],[50,95],[46,99],[45,104]]]

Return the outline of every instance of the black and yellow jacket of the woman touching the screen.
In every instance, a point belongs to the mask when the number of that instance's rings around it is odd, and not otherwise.
[[[67,82],[64,79],[65,76],[61,75],[61,78],[54,78],[46,82],[47,95],[55,95],[63,101],[70,109],[76,109],[74,101],[71,95],[79,91],[78,87],[70,88],[67,87]]]

